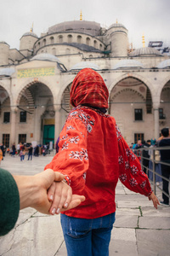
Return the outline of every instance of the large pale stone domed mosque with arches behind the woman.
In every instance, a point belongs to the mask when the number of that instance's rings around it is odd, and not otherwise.
[[[170,127],[170,56],[155,47],[133,49],[127,28],[65,21],[38,38],[26,32],[20,49],[0,42],[0,143],[53,142],[70,111],[71,82],[84,67],[108,87],[108,113],[127,143],[158,138]],[[52,144],[52,143],[51,143]]]

